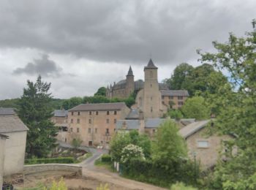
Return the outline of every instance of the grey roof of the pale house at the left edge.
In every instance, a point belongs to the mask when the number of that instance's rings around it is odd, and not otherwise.
[[[0,133],[29,130],[18,115],[0,115]]]

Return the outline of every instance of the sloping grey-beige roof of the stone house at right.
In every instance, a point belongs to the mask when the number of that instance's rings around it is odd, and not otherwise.
[[[205,127],[209,121],[211,120],[195,121],[194,123],[190,123],[189,125],[184,126],[178,132],[179,134],[181,134],[182,137],[186,139],[200,129],[203,129],[203,127]]]

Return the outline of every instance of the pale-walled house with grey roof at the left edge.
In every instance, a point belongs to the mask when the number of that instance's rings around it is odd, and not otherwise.
[[[23,172],[28,130],[12,108],[0,108],[0,134],[8,137],[4,145],[4,176]]]

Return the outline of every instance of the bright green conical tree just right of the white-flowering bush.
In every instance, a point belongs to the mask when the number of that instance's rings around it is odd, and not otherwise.
[[[187,157],[187,147],[183,137],[178,134],[178,126],[171,120],[165,121],[157,129],[152,159],[168,169],[173,162],[185,157]]]

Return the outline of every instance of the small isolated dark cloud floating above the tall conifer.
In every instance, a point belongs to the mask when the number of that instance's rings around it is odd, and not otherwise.
[[[49,59],[49,56],[44,54],[40,59],[34,59],[33,63],[28,63],[23,68],[17,68],[13,71],[14,75],[42,75],[46,77],[59,77],[61,75],[61,67]]]

